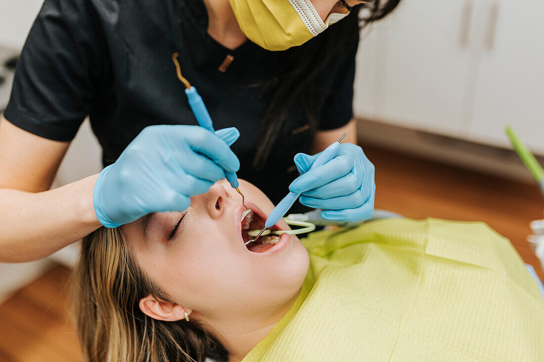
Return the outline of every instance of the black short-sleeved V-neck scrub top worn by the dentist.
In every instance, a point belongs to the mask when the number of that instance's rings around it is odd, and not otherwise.
[[[207,34],[202,0],[45,0],[17,66],[4,116],[28,132],[70,141],[86,116],[100,142],[103,165],[153,124],[197,124],[171,55],[206,103],[215,129],[237,127],[232,146],[238,177],[277,203],[298,177],[293,157],[313,141],[304,112],[295,107],[258,172],[252,171],[262,112],[261,88],[274,76],[277,52],[251,41],[237,49]],[[334,26],[334,25],[333,25]],[[356,26],[356,24],[355,24]],[[327,90],[318,128],[335,129],[352,117],[356,45],[339,54],[320,84]],[[234,58],[225,72],[219,65]],[[291,211],[300,211],[299,203]]]

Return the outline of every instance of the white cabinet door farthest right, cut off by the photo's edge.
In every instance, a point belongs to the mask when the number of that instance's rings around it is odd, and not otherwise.
[[[490,0],[470,135],[508,145],[511,124],[544,154],[544,2]]]

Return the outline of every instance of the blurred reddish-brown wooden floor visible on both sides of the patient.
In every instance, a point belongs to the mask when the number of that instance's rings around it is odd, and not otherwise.
[[[484,176],[364,147],[376,166],[376,208],[407,217],[485,221],[542,270],[526,240],[544,202],[535,186]],[[77,361],[81,351],[69,314],[70,270],[62,266],[0,305],[0,360]]]

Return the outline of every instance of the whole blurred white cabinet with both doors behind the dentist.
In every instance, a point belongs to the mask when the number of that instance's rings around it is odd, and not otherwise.
[[[542,14],[537,0],[401,1],[361,42],[355,115],[498,146],[511,124],[544,154]]]

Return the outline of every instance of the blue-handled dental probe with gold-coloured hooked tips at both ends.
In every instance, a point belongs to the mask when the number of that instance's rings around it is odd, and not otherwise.
[[[199,122],[200,127],[215,132],[213,129],[212,117],[209,116],[208,109],[206,108],[204,101],[202,101],[202,97],[196,91],[196,88],[194,88],[194,86],[192,86],[189,81],[181,75],[180,63],[177,61],[178,55],[178,53],[172,54],[172,61],[174,61],[174,65],[176,66],[177,77],[185,85],[185,93],[187,95],[187,99],[189,100],[189,106],[195,115],[196,121]],[[232,188],[236,190],[238,194],[242,195],[242,204],[247,209],[245,206],[244,194],[242,194],[242,191],[239,189],[240,184],[238,183],[236,172],[229,172],[225,170],[225,176]]]

